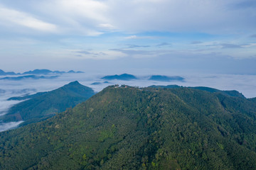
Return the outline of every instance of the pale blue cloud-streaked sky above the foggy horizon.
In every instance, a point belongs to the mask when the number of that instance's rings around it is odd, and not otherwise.
[[[255,0],[0,0],[0,69],[256,74]]]

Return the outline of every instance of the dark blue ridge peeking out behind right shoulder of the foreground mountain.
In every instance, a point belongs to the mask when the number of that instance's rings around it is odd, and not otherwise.
[[[178,85],[168,85],[168,86],[149,86],[149,87],[153,87],[153,88],[164,88],[164,89],[173,89],[173,88],[183,88],[183,86],[178,86]],[[202,91],[208,91],[210,93],[220,93],[223,94],[225,96],[233,96],[233,97],[240,97],[240,98],[245,98],[245,96],[243,96],[241,93],[239,93],[238,91],[221,91],[218,89],[213,89],[210,87],[206,87],[206,86],[196,86],[196,87],[188,87],[190,89],[198,89],[198,90],[202,90]]]

